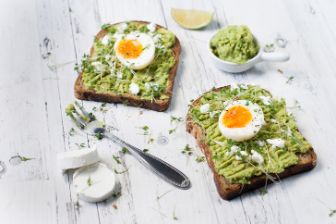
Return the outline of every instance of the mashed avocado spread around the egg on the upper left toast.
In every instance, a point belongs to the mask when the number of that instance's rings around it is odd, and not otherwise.
[[[123,24],[126,25],[126,24]],[[129,93],[131,83],[139,86],[137,94],[141,99],[166,99],[165,94],[170,69],[175,64],[172,47],[175,36],[166,29],[156,29],[150,32],[146,24],[129,22],[126,29],[120,33],[118,25],[104,25],[102,27],[109,36],[109,42],[95,39],[92,56],[84,55],[81,64],[85,87],[101,93],[115,93],[122,95]],[[152,63],[142,70],[132,70],[115,57],[113,50],[116,41],[115,34],[125,35],[131,32],[148,33],[156,39],[155,58]]]

